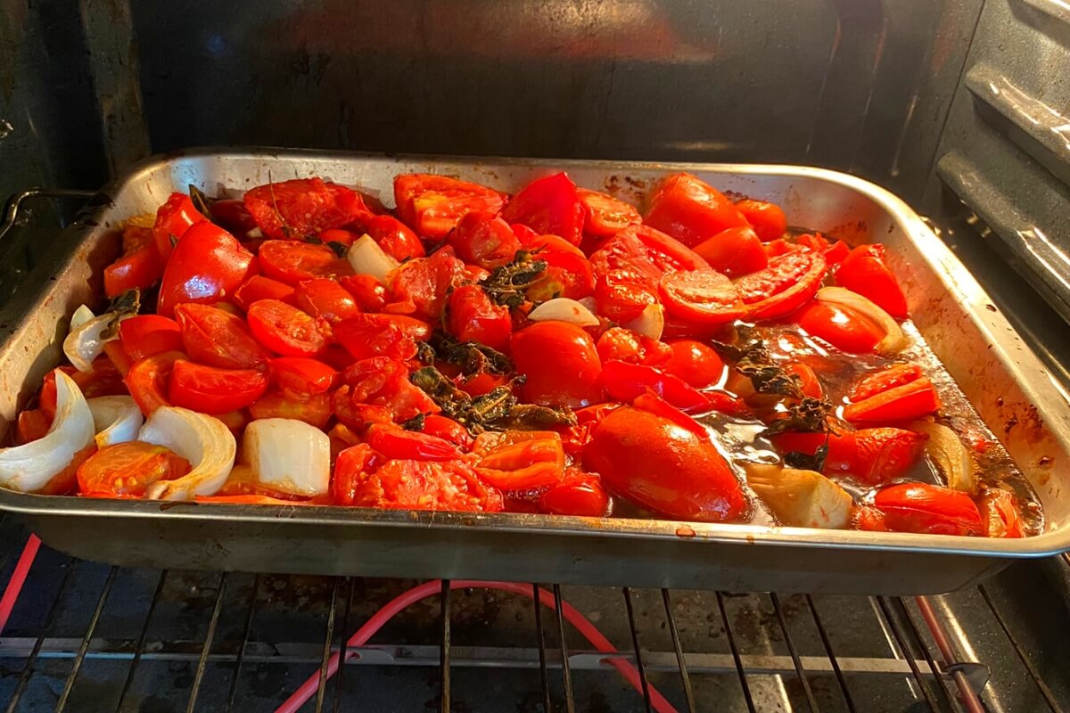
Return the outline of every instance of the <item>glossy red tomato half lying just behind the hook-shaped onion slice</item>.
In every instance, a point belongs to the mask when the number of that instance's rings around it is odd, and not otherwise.
[[[167,389],[175,406],[202,414],[226,414],[250,405],[268,390],[268,375],[256,369],[218,369],[179,359]]]

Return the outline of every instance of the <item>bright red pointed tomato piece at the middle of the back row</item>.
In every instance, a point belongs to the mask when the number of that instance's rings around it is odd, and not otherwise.
[[[502,211],[509,222],[519,222],[540,235],[556,235],[572,245],[583,237],[584,210],[580,195],[565,173],[536,179],[520,189]]]

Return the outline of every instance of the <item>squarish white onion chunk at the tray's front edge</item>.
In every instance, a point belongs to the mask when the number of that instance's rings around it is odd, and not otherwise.
[[[315,425],[292,418],[262,418],[248,424],[242,461],[263,486],[291,495],[324,495],[331,484],[331,439]]]

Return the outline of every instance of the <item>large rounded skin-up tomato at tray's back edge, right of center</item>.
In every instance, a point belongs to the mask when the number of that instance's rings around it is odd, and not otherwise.
[[[644,220],[687,246],[748,224],[724,193],[688,173],[670,175],[658,184]]]

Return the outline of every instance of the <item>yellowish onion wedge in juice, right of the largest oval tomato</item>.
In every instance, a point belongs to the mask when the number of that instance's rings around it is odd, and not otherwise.
[[[843,529],[851,522],[851,494],[814,470],[748,463],[747,484],[784,525]]]

